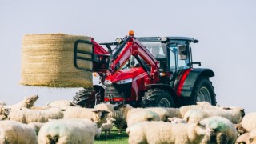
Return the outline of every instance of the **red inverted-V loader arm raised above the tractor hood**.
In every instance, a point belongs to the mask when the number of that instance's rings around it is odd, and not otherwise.
[[[114,57],[110,63],[110,74],[115,74],[118,70],[121,70],[122,66],[124,66],[130,56],[133,55],[142,66],[143,70],[149,74],[151,82],[158,82],[159,62],[154,58],[153,54],[151,54],[145,46],[142,46],[133,36],[126,37],[124,43],[122,43],[116,51],[116,54],[113,55]],[[144,62],[142,62],[142,60]],[[148,70],[145,63],[150,66],[150,70]]]

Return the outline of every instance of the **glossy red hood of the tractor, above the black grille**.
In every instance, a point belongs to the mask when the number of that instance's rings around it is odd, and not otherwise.
[[[111,81],[112,83],[116,83],[121,80],[126,80],[128,78],[135,78],[139,74],[144,73],[145,71],[142,67],[133,67],[130,69],[119,70],[117,73],[110,75],[106,78],[106,80]]]

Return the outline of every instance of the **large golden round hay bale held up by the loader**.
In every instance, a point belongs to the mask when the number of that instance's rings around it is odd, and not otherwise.
[[[26,86],[92,87],[92,72],[74,67],[74,42],[90,37],[68,34],[26,34],[22,40],[22,79]],[[92,53],[92,45],[78,44]],[[90,58],[90,55],[87,56]],[[90,61],[80,62],[92,70]]]

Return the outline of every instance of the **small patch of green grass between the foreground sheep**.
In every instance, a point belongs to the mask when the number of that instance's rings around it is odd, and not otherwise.
[[[127,144],[128,143],[128,134],[125,130],[122,130],[122,134],[118,134],[118,129],[113,127],[111,130],[111,137],[106,138],[105,133],[102,132],[101,138],[95,138],[95,144]]]

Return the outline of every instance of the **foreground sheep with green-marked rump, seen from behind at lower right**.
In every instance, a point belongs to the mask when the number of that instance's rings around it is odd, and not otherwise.
[[[202,119],[200,123],[209,125],[210,129],[214,130],[214,134],[211,135],[208,142],[234,143],[238,138],[234,124],[226,118],[213,116]]]

